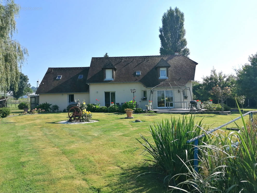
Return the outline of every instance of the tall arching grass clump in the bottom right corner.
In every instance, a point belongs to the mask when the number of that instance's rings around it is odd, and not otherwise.
[[[244,127],[228,135],[219,132],[215,141],[198,146],[199,173],[184,162],[187,172],[171,181],[181,176],[187,180],[170,186],[171,192],[257,192],[257,117],[246,123],[239,112]]]

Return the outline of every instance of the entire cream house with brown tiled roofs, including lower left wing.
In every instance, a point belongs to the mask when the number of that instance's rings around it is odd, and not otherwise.
[[[131,89],[136,89],[139,108],[146,109],[149,100],[153,101],[152,109],[188,108],[197,64],[178,52],[93,57],[90,67],[48,68],[36,94],[40,103],[47,101],[63,109],[73,99],[101,106],[110,106],[111,102],[121,104],[133,100]],[[81,80],[79,75],[83,75]]]

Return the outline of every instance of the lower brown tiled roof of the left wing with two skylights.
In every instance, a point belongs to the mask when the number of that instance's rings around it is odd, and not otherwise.
[[[36,94],[89,92],[88,70],[89,67],[48,68]],[[62,75],[60,80],[56,79],[58,75]],[[78,79],[79,75],[83,78]]]

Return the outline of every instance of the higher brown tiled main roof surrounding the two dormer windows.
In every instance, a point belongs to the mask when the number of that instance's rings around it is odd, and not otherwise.
[[[103,66],[108,62],[116,67],[114,80],[104,81]],[[168,79],[159,79],[157,64],[170,65]],[[103,82],[141,82],[146,87],[185,85],[195,78],[198,63],[182,55],[96,57],[91,59],[87,83]],[[159,66],[160,67],[160,66]],[[136,75],[141,71],[141,75]]]

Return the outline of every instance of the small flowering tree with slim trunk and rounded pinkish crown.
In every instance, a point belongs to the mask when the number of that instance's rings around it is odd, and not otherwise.
[[[214,86],[210,91],[211,95],[217,97],[217,99],[221,100],[221,112],[224,111],[224,101],[227,100],[231,96],[230,87],[226,86],[223,89],[221,87]]]

